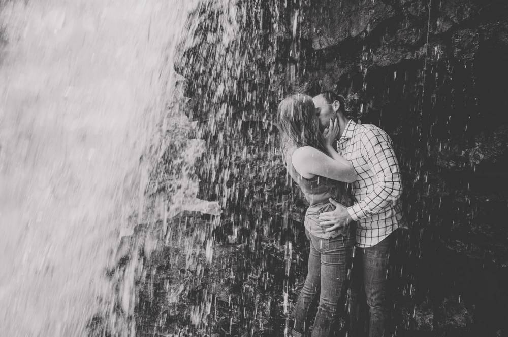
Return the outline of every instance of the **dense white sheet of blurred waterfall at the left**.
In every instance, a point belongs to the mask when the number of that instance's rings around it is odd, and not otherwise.
[[[83,336],[111,310],[105,270],[140,221],[140,156],[198,0],[2,3],[0,336]]]

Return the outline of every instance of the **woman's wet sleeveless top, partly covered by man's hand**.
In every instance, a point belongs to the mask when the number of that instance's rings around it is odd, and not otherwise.
[[[325,229],[330,226],[321,226],[321,220],[317,218],[320,213],[335,209],[335,206],[329,201],[330,198],[333,198],[345,206],[352,205],[352,200],[348,197],[346,192],[345,183],[318,175],[310,179],[302,177],[296,171],[291,161],[291,157],[296,149],[297,147],[288,148],[284,152],[284,161],[288,173],[298,184],[300,190],[305,196],[305,199],[309,203],[304,219],[305,229],[307,229],[310,234],[324,239],[334,238],[339,235],[350,235],[349,233],[344,233],[343,231],[325,232]]]

